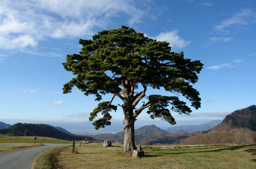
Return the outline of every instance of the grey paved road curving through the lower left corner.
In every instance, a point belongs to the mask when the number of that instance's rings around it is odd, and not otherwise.
[[[32,163],[38,154],[54,147],[68,146],[60,144],[45,145],[47,146],[38,146],[0,154],[0,169],[31,169]]]

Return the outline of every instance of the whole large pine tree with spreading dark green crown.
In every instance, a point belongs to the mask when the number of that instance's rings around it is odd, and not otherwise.
[[[113,94],[111,100],[99,103],[90,114],[91,121],[98,113],[102,115],[93,122],[95,129],[111,124],[109,113],[117,109],[112,101],[115,97],[123,100],[123,105],[119,106],[124,112],[125,153],[136,149],[134,122],[145,108],[148,108],[147,114],[152,119],[162,117],[171,124],[176,122],[170,110],[179,114],[191,113],[178,95],[146,96],[147,86],[181,94],[191,102],[191,106],[200,108],[199,92],[190,83],[197,82],[197,73],[203,64],[185,59],[183,52],[171,52],[169,43],[147,38],[126,26],[100,31],[93,36],[93,40],[80,39],[79,43],[83,46],[79,54],[67,55],[67,62],[63,63],[64,68],[75,75],[64,84],[63,93],[71,92],[76,86],[86,96],[95,95],[96,101],[100,101],[106,93]],[[138,86],[143,86],[144,90],[136,92]],[[147,101],[136,107],[142,98]]]

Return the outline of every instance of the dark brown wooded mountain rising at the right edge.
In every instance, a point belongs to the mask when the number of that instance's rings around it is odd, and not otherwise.
[[[236,128],[248,128],[256,131],[256,105],[235,110],[227,115],[220,124],[213,127],[212,130],[229,131]]]

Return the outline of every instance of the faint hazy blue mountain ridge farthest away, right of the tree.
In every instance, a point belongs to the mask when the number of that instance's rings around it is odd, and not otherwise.
[[[194,132],[194,131],[208,131],[212,127],[216,126],[217,124],[221,123],[220,120],[212,120],[208,123],[199,124],[199,125],[181,125],[181,126],[175,126],[170,127],[167,129],[164,129],[165,131],[168,131],[170,133],[176,133],[176,132]]]

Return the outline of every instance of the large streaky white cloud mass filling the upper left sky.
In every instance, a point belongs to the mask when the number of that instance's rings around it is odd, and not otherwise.
[[[132,0],[1,0],[0,49],[23,50],[47,38],[83,38],[124,14],[140,23],[147,11]]]

